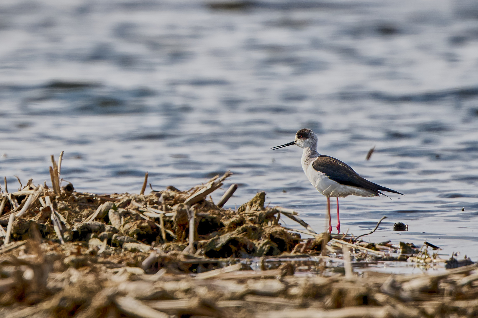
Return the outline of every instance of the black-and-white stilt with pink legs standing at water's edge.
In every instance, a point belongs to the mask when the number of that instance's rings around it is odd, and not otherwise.
[[[302,168],[310,183],[321,194],[327,197],[327,211],[329,232],[332,233],[330,219],[330,197],[337,197],[337,231],[340,232],[340,216],[338,213],[338,198],[348,195],[379,196],[380,191],[402,193],[377,185],[362,178],[347,164],[338,159],[319,154],[317,152],[317,135],[310,129],[304,128],[295,134],[295,140],[288,144],[272,147],[272,150],[298,145],[304,149],[302,153]]]

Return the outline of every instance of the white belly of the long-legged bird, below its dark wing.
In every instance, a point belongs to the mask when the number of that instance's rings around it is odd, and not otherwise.
[[[348,195],[359,196],[377,196],[375,193],[368,189],[359,188],[351,185],[341,185],[334,180],[330,180],[326,174],[315,171],[312,167],[312,163],[307,166],[303,166],[305,175],[309,179],[310,183],[325,196],[337,196],[346,197]]]

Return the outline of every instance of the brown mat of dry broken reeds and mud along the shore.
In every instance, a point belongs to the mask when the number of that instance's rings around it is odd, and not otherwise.
[[[98,195],[29,180],[0,195],[0,317],[471,317],[478,270],[447,267],[425,242],[363,242],[317,234],[298,214],[264,207],[260,192],[237,210],[208,197],[231,173],[186,191]],[[20,180],[19,180],[20,181]],[[9,185],[11,187],[11,185]],[[284,217],[300,229],[282,226]],[[372,231],[373,232],[373,231]],[[309,238],[302,238],[306,234]],[[436,247],[436,248],[435,248]],[[413,261],[420,275],[352,266]],[[454,268],[455,267],[455,268]],[[430,270],[425,270],[431,268]]]

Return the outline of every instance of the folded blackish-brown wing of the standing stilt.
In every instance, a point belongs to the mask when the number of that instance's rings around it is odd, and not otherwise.
[[[341,185],[351,185],[359,188],[369,189],[377,194],[382,194],[380,191],[386,191],[401,195],[400,192],[377,185],[367,179],[362,178],[358,173],[350,168],[348,164],[324,154],[319,155],[314,160],[312,167],[315,169],[315,171],[326,174],[330,180],[334,180]]]

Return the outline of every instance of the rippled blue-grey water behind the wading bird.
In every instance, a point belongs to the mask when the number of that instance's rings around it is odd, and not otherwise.
[[[229,207],[265,190],[321,230],[301,150],[270,151],[308,127],[320,153],[405,194],[341,199],[343,230],[387,215],[371,241],[478,258],[474,1],[4,0],[0,43],[9,189],[49,183],[61,150],[79,191],[139,192],[146,171],[186,189],[230,169]]]

